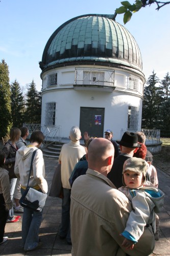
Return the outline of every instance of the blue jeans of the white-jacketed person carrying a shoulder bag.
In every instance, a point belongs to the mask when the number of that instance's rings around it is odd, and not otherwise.
[[[25,190],[21,188],[21,195],[23,195],[24,191]],[[39,228],[42,221],[42,211],[37,212],[29,208],[23,208],[22,246],[25,250],[33,250],[38,246]]]

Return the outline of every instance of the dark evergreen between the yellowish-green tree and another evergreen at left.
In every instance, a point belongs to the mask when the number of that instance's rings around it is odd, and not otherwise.
[[[21,127],[25,104],[19,83],[16,81],[11,84],[11,112],[14,127]]]

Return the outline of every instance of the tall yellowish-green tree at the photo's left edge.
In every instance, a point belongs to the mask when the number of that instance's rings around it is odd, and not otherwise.
[[[10,96],[9,70],[3,59],[0,62],[0,138],[9,133],[12,127]]]

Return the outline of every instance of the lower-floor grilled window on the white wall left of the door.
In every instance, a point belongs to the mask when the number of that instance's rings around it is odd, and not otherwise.
[[[56,102],[47,102],[45,109],[45,126],[54,126],[56,118]]]

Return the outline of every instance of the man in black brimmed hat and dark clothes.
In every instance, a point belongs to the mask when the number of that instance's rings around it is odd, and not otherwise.
[[[123,186],[122,171],[124,162],[128,158],[133,157],[133,154],[138,150],[138,147],[140,147],[137,141],[137,134],[130,132],[125,132],[121,140],[116,140],[120,146],[121,154],[114,159],[111,171],[108,173],[107,177],[117,188]]]

